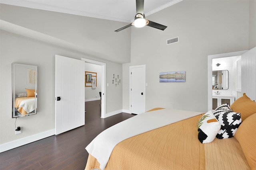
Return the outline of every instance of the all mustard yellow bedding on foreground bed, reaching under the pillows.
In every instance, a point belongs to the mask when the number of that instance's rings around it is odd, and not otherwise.
[[[249,170],[244,152],[233,137],[198,140],[202,115],[126,139],[114,148],[105,170]],[[89,154],[85,170],[99,169]]]

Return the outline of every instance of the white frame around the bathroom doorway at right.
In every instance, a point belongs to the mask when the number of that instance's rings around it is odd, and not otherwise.
[[[248,50],[208,55],[208,110],[212,110],[212,59],[240,56]]]

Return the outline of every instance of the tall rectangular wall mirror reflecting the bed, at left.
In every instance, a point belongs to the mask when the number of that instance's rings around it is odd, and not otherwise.
[[[12,63],[12,118],[37,113],[37,66]]]

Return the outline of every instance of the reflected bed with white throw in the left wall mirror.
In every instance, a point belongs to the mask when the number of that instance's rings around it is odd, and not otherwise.
[[[15,108],[21,115],[27,115],[35,110],[35,97],[20,97],[15,99]]]

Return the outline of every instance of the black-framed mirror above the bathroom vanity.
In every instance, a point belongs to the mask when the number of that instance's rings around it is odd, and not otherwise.
[[[212,71],[212,89],[228,90],[228,70]]]

